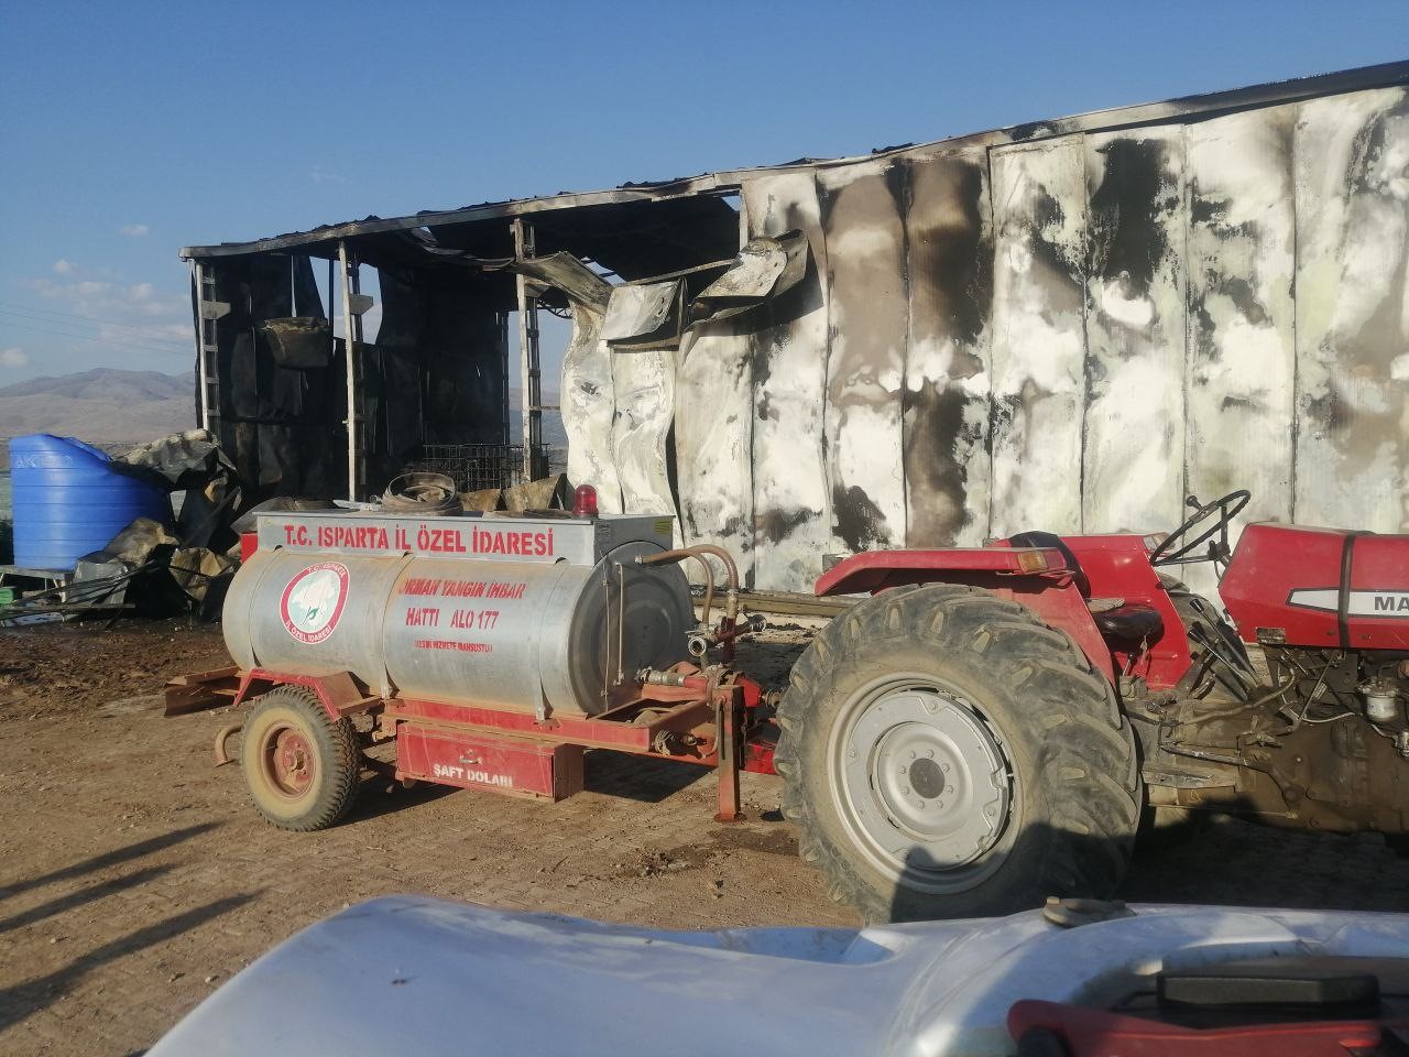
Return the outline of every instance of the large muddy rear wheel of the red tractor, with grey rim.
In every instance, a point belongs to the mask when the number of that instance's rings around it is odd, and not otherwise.
[[[1036,614],[962,585],[836,617],[778,709],[783,815],[867,922],[1106,898],[1140,820],[1110,682]]]

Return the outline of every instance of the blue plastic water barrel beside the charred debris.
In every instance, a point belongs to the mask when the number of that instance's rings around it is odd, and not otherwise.
[[[14,564],[69,571],[137,517],[170,521],[166,493],[123,476],[92,444],[35,433],[10,441]]]

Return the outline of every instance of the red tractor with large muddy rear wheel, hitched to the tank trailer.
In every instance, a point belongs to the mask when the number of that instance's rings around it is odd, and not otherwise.
[[[783,813],[869,920],[1109,895],[1160,812],[1409,832],[1409,536],[1251,524],[858,554],[778,709]],[[1213,562],[1231,622],[1175,572]],[[1265,665],[1248,654],[1255,643]]]

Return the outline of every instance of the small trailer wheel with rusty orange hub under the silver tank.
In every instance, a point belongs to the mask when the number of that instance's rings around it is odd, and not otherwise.
[[[309,833],[348,813],[361,751],[349,720],[331,719],[300,686],[276,686],[245,720],[240,767],[249,799],[269,823]]]

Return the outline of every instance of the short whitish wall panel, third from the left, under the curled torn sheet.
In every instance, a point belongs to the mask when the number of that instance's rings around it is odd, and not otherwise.
[[[735,321],[700,323],[681,340],[675,471],[686,543],[727,547],[754,578],[752,366]],[[693,565],[695,562],[689,562]],[[686,575],[697,582],[697,569]]]

